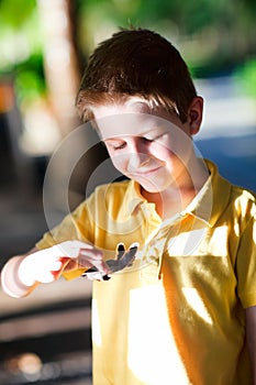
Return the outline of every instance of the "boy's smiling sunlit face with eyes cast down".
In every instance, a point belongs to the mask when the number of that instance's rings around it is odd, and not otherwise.
[[[148,193],[182,184],[193,154],[190,121],[157,109],[149,113],[142,100],[93,108],[94,119],[115,168]],[[198,131],[198,130],[196,130]]]

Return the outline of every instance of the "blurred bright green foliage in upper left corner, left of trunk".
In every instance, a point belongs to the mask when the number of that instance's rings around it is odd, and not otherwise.
[[[0,0],[0,77],[14,82],[18,101],[45,92],[36,0]]]

